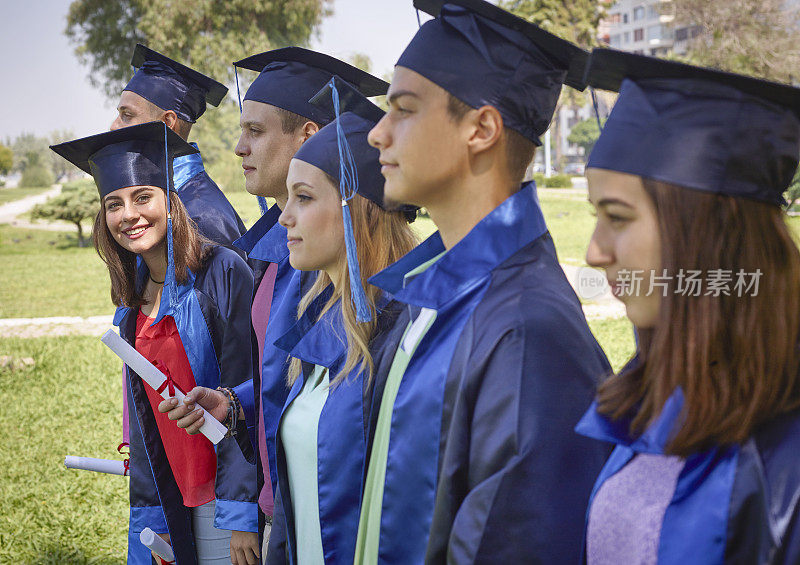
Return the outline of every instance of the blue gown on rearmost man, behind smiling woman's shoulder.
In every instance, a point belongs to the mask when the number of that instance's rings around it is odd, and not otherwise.
[[[220,245],[231,245],[245,232],[239,214],[206,173],[199,153],[174,159],[172,170],[175,190],[197,231]]]

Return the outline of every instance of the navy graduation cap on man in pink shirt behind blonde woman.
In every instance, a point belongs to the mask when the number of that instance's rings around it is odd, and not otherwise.
[[[252,55],[234,66],[260,72],[244,96],[277,106],[320,124],[332,119],[311,104],[312,98],[334,75],[364,96],[386,94],[389,84],[344,61],[302,47],[284,47]]]

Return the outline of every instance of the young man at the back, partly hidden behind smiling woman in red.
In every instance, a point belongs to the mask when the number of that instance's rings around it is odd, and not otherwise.
[[[111,130],[157,120],[186,140],[206,104],[218,106],[228,92],[217,81],[141,44],[131,65],[136,72],[122,91]],[[178,196],[198,231],[215,243],[231,245],[245,232],[244,224],[206,173],[200,154],[179,157],[172,166]]]

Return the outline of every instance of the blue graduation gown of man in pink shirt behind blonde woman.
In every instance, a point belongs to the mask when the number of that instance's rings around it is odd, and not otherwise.
[[[278,223],[280,215],[281,209],[277,205],[272,206],[246,234],[234,242],[236,247],[247,253],[251,264],[256,264],[254,288],[258,288],[261,284],[267,263],[277,264],[278,269],[264,339],[261,375],[255,371],[253,379],[235,388],[242,403],[255,452],[258,449],[258,411],[263,410],[273,494],[278,480],[275,464],[275,433],[281,410],[289,395],[289,387],[286,386],[286,372],[289,368],[286,352],[276,347],[275,341],[297,320],[302,280],[301,273],[289,264],[286,228]],[[259,394],[255,394],[255,391],[259,391]],[[256,460],[260,490],[263,486],[263,471],[260,458],[256,457]]]

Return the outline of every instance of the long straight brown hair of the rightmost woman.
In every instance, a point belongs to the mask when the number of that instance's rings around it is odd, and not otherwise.
[[[639,434],[680,387],[682,425],[667,452],[687,456],[744,442],[766,421],[800,406],[800,252],[774,205],[644,180],[655,204],[662,269],[672,282],[659,320],[639,333],[639,359],[606,381],[601,413],[633,416]],[[675,293],[683,269],[736,278],[761,272],[758,292]]]

